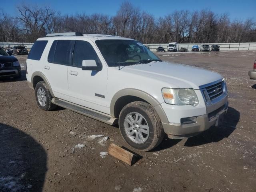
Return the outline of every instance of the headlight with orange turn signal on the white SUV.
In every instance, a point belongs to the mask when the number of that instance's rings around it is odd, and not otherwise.
[[[191,88],[162,88],[164,102],[172,105],[192,105],[197,106],[199,101],[194,89]]]

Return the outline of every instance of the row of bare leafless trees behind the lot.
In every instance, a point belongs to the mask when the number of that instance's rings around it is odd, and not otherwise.
[[[148,43],[256,42],[253,18],[231,20],[227,13],[211,10],[175,10],[156,18],[130,2],[123,2],[114,16],[62,15],[50,7],[20,5],[16,16],[2,10],[0,42],[34,42],[47,33],[83,32],[110,34]]]

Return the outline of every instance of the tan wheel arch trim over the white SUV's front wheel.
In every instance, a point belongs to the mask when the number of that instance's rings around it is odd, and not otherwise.
[[[162,106],[160,105],[160,102],[158,102],[158,100],[156,100],[156,98],[154,98],[153,96],[151,96],[150,94],[148,94],[142,90],[133,89],[133,88],[122,89],[122,90],[119,90],[118,92],[116,92],[116,94],[114,94],[114,96],[111,100],[111,103],[110,103],[111,116],[118,118],[122,108],[126,104],[128,104],[130,102],[134,102],[134,101],[144,101],[144,102],[149,103],[150,105],[152,105],[155,108],[161,121],[165,122],[165,123],[169,123],[168,118],[167,118]]]

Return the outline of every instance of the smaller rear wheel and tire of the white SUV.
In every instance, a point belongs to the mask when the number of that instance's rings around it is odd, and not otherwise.
[[[40,91],[38,91],[39,89]],[[40,94],[40,92],[41,92],[41,96],[44,96],[41,99],[38,98],[38,94]],[[45,111],[51,111],[56,108],[56,105],[52,103],[53,97],[50,94],[48,86],[44,81],[40,81],[36,84],[35,96],[36,96],[36,102],[40,109]],[[42,102],[39,102],[39,100]]]

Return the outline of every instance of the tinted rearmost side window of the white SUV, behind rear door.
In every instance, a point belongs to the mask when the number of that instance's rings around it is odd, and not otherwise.
[[[36,41],[29,52],[28,59],[33,59],[33,60],[39,61],[44,52],[44,48],[45,48],[47,42],[48,41]],[[16,47],[14,47],[14,48],[16,48]]]

